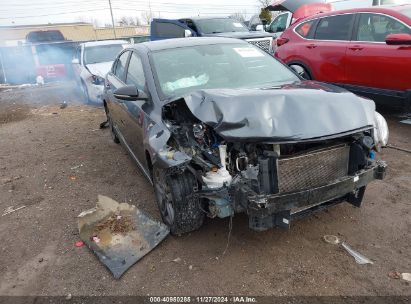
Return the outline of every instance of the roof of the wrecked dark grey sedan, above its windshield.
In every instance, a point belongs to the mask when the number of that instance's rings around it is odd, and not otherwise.
[[[159,51],[174,49],[179,47],[197,46],[197,45],[208,45],[208,44],[227,44],[227,43],[244,43],[247,42],[234,39],[234,38],[223,38],[223,37],[191,37],[191,38],[175,38],[175,39],[165,39],[157,41],[142,42],[135,45],[130,45],[128,48],[136,48],[137,46],[144,46],[149,51]]]

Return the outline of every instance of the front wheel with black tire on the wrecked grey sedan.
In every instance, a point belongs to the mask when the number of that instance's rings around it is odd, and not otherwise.
[[[161,218],[171,234],[181,235],[203,225],[205,213],[201,210],[201,199],[190,196],[197,185],[193,174],[166,176],[164,170],[154,168],[153,183]]]

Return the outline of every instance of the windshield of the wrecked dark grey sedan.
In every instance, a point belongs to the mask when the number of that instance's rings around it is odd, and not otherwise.
[[[151,57],[163,99],[200,89],[268,89],[299,81],[271,55],[243,43],[167,49]]]

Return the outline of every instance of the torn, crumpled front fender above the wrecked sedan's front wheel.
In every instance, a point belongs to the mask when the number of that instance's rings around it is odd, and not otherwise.
[[[191,161],[191,157],[186,153],[167,145],[171,133],[165,125],[150,123],[147,127],[147,132],[147,145],[153,165],[166,169],[185,166]]]

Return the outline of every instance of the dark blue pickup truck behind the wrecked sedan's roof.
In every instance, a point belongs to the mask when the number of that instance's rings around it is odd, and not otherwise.
[[[178,20],[153,19],[151,40],[183,37],[228,37],[254,44],[273,54],[273,36],[264,31],[250,31],[238,20],[226,17],[195,17]]]

